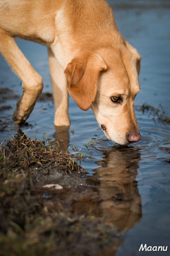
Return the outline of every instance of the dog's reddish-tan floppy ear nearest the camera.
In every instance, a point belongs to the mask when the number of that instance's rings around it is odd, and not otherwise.
[[[67,88],[79,108],[88,110],[95,100],[98,76],[100,71],[107,69],[99,54],[73,59],[64,73],[67,79]]]

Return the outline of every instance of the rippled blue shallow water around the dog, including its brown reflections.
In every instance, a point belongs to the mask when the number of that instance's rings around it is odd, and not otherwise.
[[[135,105],[147,103],[155,108],[159,104],[166,110],[170,102],[170,3],[169,1],[108,1],[112,6],[119,30],[129,43],[142,55],[140,84],[141,92]],[[16,39],[33,67],[44,81],[43,92],[51,92],[45,47]],[[0,56],[0,87],[11,88],[22,95],[18,78],[11,72]],[[11,121],[16,100],[5,100],[1,105],[12,109],[0,112],[0,119],[6,122],[0,133],[0,141],[17,133],[17,126]],[[37,102],[22,127],[31,138],[33,134],[42,139],[42,133],[51,140],[59,140],[64,150],[76,146],[87,158],[81,165],[89,172],[86,182],[99,187],[103,203],[99,205],[100,216],[106,216],[112,223],[125,231],[124,239],[118,243],[116,256],[154,255],[155,252],[138,252],[141,244],[148,246],[169,246],[170,250],[170,129],[151,110],[136,107],[136,116],[142,139],[121,148],[105,138],[92,110],[84,112],[70,97],[70,128],[56,129],[53,125],[54,105],[51,101]],[[159,114],[161,111],[159,112]],[[30,125],[31,124],[31,125]],[[107,252],[106,252],[107,253]],[[158,254],[159,253],[159,254]],[[169,255],[158,252],[157,255]],[[108,254],[106,254],[108,255]],[[114,255],[114,254],[109,254]]]

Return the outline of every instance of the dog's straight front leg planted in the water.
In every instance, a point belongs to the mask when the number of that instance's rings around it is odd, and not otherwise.
[[[56,60],[51,48],[48,48],[48,62],[55,106],[54,124],[56,126],[69,126],[69,94],[67,91],[66,76],[63,67]]]

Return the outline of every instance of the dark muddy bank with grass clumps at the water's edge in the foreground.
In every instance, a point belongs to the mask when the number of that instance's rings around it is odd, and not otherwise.
[[[1,146],[0,255],[114,255],[123,235],[78,158],[25,135]]]

